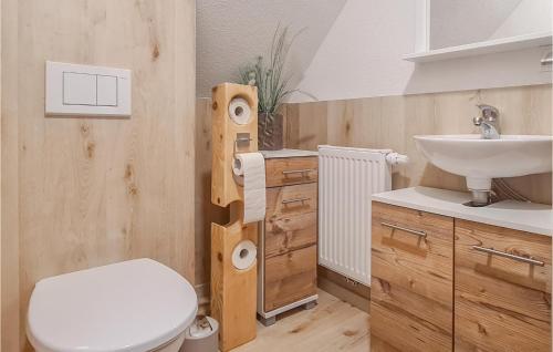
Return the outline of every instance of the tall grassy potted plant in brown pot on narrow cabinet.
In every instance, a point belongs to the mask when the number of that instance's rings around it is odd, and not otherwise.
[[[258,56],[255,63],[247,64],[239,71],[241,84],[258,87],[258,142],[261,151],[282,149],[284,144],[282,103],[290,94],[300,92],[289,89],[290,75],[285,72],[285,64],[290,48],[300,33],[289,39],[288,27],[282,30],[276,28],[269,63],[263,56]]]

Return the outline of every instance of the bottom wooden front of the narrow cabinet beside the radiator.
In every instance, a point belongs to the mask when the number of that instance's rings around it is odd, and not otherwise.
[[[316,246],[268,258],[264,270],[268,312],[316,294]]]

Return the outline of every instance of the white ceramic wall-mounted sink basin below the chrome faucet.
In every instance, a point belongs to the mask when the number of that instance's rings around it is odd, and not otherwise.
[[[552,136],[478,134],[415,136],[419,151],[437,167],[467,177],[471,190],[489,190],[491,179],[551,172]]]

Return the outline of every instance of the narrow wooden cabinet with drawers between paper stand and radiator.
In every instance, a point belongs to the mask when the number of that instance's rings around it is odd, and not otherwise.
[[[317,157],[269,158],[267,216],[260,232],[258,314],[316,301]]]

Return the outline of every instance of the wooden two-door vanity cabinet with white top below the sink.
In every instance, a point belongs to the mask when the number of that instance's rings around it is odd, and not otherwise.
[[[372,352],[551,351],[551,208],[467,200],[373,198]]]

